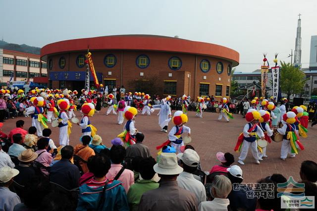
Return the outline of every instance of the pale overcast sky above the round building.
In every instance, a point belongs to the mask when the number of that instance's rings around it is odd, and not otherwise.
[[[251,72],[267,53],[272,64],[295,50],[302,16],[302,66],[317,35],[317,0],[0,0],[0,37],[43,47],[61,40],[119,34],[175,36],[240,53],[237,71]]]

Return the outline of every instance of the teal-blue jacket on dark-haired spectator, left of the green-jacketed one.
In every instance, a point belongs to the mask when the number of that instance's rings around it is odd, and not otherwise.
[[[97,210],[103,187],[91,188],[87,184],[79,187],[79,199],[76,211]],[[101,211],[129,211],[127,195],[122,182],[109,181],[106,186],[106,199]]]

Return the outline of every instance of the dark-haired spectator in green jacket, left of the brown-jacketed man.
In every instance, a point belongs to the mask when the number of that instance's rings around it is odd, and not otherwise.
[[[129,202],[130,211],[137,211],[141,196],[143,193],[159,187],[159,183],[152,180],[156,172],[153,166],[156,164],[154,158],[143,158],[140,161],[140,174],[143,178],[130,186],[127,197]]]

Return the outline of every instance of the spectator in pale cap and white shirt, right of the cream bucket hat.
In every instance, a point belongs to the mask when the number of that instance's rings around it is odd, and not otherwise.
[[[180,166],[184,169],[177,177],[178,186],[195,194],[198,204],[205,202],[207,200],[205,186],[193,176],[199,164],[199,155],[196,151],[187,149],[184,153],[179,153],[177,158],[180,159]]]

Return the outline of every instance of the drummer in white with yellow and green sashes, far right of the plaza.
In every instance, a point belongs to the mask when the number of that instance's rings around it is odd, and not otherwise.
[[[283,115],[283,127],[277,128],[277,132],[283,135],[280,157],[282,160],[285,160],[288,154],[291,154],[291,158],[295,158],[299,149],[304,150],[304,146],[300,143],[296,132],[295,122],[296,114],[293,111],[288,111]]]

